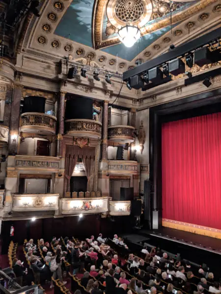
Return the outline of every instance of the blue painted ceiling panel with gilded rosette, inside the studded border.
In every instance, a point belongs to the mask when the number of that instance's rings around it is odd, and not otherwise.
[[[198,2],[173,1],[172,27],[187,19]],[[73,0],[55,35],[132,61],[171,28],[169,0],[164,1],[163,9],[159,3],[160,0]],[[117,37],[118,29],[129,21],[141,31],[140,40],[132,48],[126,48]]]

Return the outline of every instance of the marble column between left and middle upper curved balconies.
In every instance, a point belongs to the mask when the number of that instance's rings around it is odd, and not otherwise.
[[[57,134],[57,156],[62,157],[62,140],[64,134],[64,112],[66,92],[60,91],[58,103],[58,134]]]

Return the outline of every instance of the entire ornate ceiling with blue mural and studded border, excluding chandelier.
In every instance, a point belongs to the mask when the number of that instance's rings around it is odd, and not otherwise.
[[[104,69],[125,71],[138,59],[147,61],[221,23],[220,0],[174,0],[172,33],[169,0],[41,0],[40,18],[32,17],[22,50],[73,59],[88,57]],[[118,29],[131,21],[140,40],[126,48]],[[117,67],[116,67],[117,65]]]

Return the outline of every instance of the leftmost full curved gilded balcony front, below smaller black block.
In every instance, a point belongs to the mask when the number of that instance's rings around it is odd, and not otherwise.
[[[39,112],[26,112],[21,115],[21,132],[54,135],[56,118],[53,115]]]

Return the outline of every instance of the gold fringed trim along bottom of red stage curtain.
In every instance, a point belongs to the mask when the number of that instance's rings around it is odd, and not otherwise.
[[[221,239],[221,230],[215,229],[215,228],[200,226],[200,225],[191,224],[191,223],[182,222],[182,221],[166,220],[166,219],[162,219],[162,226],[172,228],[172,229],[182,230],[186,232],[191,232],[194,234],[204,235],[204,236],[208,236],[212,238]]]

